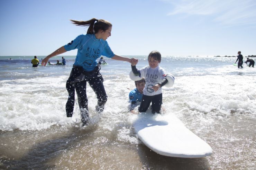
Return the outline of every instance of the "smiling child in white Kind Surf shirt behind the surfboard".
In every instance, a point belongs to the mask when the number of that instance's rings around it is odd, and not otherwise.
[[[152,113],[160,113],[162,105],[162,87],[168,82],[165,71],[159,66],[161,54],[152,51],[148,55],[148,64],[140,70],[136,68],[136,62],[131,63],[131,70],[135,75],[146,80],[143,96],[139,106],[139,112],[146,112],[152,102]]]

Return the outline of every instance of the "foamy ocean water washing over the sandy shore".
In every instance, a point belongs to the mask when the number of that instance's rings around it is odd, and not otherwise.
[[[129,57],[139,59],[138,68],[148,64],[147,56]],[[106,59],[102,66],[108,101],[101,114],[87,88],[88,126],[80,126],[77,98],[66,118],[65,83],[75,57],[65,58],[66,66],[32,68],[33,56],[0,57],[0,169],[256,168],[255,68],[238,69],[233,57],[162,58],[160,66],[175,76],[174,86],[163,88],[166,116],[174,114],[213,149],[211,156],[185,159],[161,156],[137,138],[127,109],[135,88],[127,62]]]

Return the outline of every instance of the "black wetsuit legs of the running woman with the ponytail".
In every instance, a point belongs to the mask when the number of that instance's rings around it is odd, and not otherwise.
[[[98,106],[96,107],[96,110],[98,112],[102,112],[104,109],[104,105],[107,102],[107,94],[103,86],[103,78],[102,76],[94,77],[94,78],[88,78],[86,80],[75,82],[73,83],[74,79],[79,76],[81,72],[78,70],[72,68],[72,72],[70,75],[70,78],[68,78],[66,83],[66,89],[68,92],[68,99],[66,103],[66,114],[67,117],[72,117],[73,110],[74,110],[74,104],[75,104],[75,90],[77,94],[78,104],[79,108],[82,112],[86,114],[86,116],[89,116],[88,114],[88,98],[86,95],[86,83],[88,82],[93,91],[95,92],[97,99],[98,99]]]

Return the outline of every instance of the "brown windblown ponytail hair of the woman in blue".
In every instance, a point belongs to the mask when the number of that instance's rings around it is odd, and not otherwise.
[[[84,27],[88,27],[87,33],[88,34],[95,34],[97,33],[99,30],[103,30],[106,31],[107,29],[109,29],[109,27],[112,27],[112,24],[104,19],[96,19],[96,18],[92,18],[88,21],[76,21],[76,20],[70,20],[73,24],[75,24],[76,26],[84,26]],[[95,21],[97,21],[95,23]]]

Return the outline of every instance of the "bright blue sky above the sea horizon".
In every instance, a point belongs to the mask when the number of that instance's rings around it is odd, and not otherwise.
[[[0,56],[46,56],[106,19],[118,55],[256,55],[255,0],[0,0]],[[76,55],[76,50],[64,55]]]

